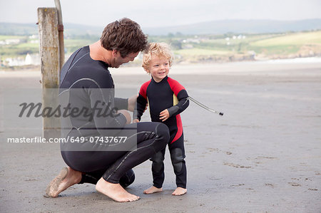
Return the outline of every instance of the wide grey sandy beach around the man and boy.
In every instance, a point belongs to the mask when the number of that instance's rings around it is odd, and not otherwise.
[[[116,88],[133,91],[150,78],[135,67],[111,73]],[[174,65],[169,76],[224,115],[195,103],[181,114],[187,194],[171,195],[167,150],[163,192],[143,194],[152,182],[147,161],[134,168],[128,187],[141,199],[117,203],[89,184],[44,197],[65,166],[58,144],[8,143],[9,135],[36,137],[41,130],[6,130],[1,116],[4,90],[41,88],[40,71],[1,72],[0,212],[321,212],[320,59]]]

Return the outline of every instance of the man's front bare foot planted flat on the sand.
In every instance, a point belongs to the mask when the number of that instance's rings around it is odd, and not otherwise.
[[[96,190],[117,202],[131,202],[139,199],[135,194],[126,192],[120,184],[107,182],[106,180],[103,180],[103,177],[98,180]]]

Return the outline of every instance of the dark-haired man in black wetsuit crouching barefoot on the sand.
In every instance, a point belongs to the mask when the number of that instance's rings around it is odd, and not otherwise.
[[[85,113],[61,118],[61,135],[81,143],[61,144],[61,155],[68,167],[51,181],[46,196],[58,197],[71,185],[89,182],[115,201],[139,199],[123,187],[133,182],[133,167],[163,150],[169,140],[168,128],[162,123],[130,124],[126,110],[133,111],[136,97],[114,97],[108,67],[118,68],[133,61],[146,44],[140,26],[124,18],[108,24],[99,41],[78,49],[63,65],[59,95],[68,93],[71,113],[74,109]],[[130,131],[133,129],[135,133]],[[117,137],[126,138],[126,142],[113,140]],[[94,142],[95,138],[105,141]],[[113,141],[107,142],[106,138]]]

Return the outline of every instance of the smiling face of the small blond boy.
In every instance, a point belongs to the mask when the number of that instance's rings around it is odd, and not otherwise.
[[[170,66],[167,58],[153,56],[146,72],[151,73],[151,76],[156,82],[160,82],[168,75],[169,69]]]

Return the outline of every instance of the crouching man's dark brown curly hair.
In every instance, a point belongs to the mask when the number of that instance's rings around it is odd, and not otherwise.
[[[147,42],[141,26],[128,18],[108,24],[101,35],[101,46],[108,51],[119,51],[123,58],[129,53],[144,51]]]

